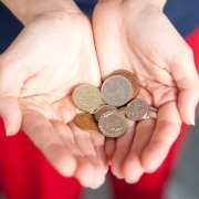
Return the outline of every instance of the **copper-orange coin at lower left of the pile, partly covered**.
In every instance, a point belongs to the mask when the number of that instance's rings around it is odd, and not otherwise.
[[[100,132],[97,122],[94,115],[90,113],[77,114],[74,118],[76,126],[83,130]]]

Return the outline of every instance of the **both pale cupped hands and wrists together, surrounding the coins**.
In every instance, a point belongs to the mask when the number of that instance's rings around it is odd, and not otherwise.
[[[29,1],[20,12],[18,4],[4,3],[25,25],[0,55],[0,115],[7,135],[22,126],[56,170],[85,187],[104,182],[108,163],[112,172],[127,182],[156,170],[181,121],[193,124],[199,100],[191,51],[163,14],[164,2],[100,1],[93,32],[72,1],[57,1],[44,10],[35,7],[40,1]],[[105,144],[100,133],[88,134],[72,122],[78,111],[71,93],[85,82],[98,86],[117,69],[137,75],[140,96],[159,112],[157,121],[129,122],[123,137]]]

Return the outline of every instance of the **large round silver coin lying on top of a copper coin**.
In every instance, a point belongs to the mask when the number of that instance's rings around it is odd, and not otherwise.
[[[113,75],[106,78],[101,92],[103,101],[112,106],[123,106],[133,96],[132,83],[122,75]]]

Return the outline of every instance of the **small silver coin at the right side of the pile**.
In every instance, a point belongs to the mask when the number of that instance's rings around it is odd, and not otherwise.
[[[126,117],[130,121],[143,119],[149,111],[147,102],[143,98],[135,98],[128,103],[126,108]]]

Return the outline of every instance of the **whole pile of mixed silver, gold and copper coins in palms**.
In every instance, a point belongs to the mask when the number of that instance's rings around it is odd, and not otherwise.
[[[127,119],[156,118],[157,108],[149,106],[144,98],[137,98],[138,93],[137,77],[125,70],[114,72],[101,90],[82,84],[72,94],[73,103],[83,111],[74,122],[83,130],[119,137],[128,128]]]

